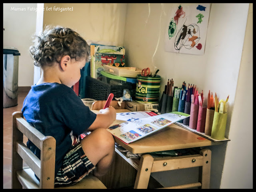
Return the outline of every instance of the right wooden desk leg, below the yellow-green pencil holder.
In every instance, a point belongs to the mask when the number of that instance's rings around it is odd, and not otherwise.
[[[212,151],[209,149],[202,149],[200,150],[200,155],[203,156],[203,166],[199,167],[199,182],[202,184],[202,189],[209,189]]]

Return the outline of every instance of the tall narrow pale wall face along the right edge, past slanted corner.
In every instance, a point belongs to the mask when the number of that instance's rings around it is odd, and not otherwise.
[[[236,97],[220,188],[252,188],[252,3],[250,3]],[[246,95],[246,98],[245,98]]]

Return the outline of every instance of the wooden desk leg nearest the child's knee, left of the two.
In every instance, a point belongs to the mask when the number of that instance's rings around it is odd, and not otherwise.
[[[134,189],[148,188],[148,181],[151,174],[154,158],[149,154],[144,154],[140,158]]]

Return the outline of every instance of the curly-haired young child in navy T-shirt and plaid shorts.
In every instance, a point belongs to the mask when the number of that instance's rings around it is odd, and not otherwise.
[[[96,177],[106,174],[114,156],[114,138],[106,128],[116,110],[108,107],[95,114],[71,88],[90,59],[90,46],[72,29],[55,27],[36,36],[30,52],[41,78],[31,86],[22,113],[42,134],[56,139],[54,186],[75,184],[92,170]],[[91,133],[79,141],[85,130]],[[27,146],[40,158],[30,140]]]

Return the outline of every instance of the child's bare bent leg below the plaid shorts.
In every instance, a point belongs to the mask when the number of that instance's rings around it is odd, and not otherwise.
[[[81,140],[81,146],[88,159],[97,165],[94,176],[103,176],[108,172],[114,157],[115,141],[108,130],[99,128]]]

